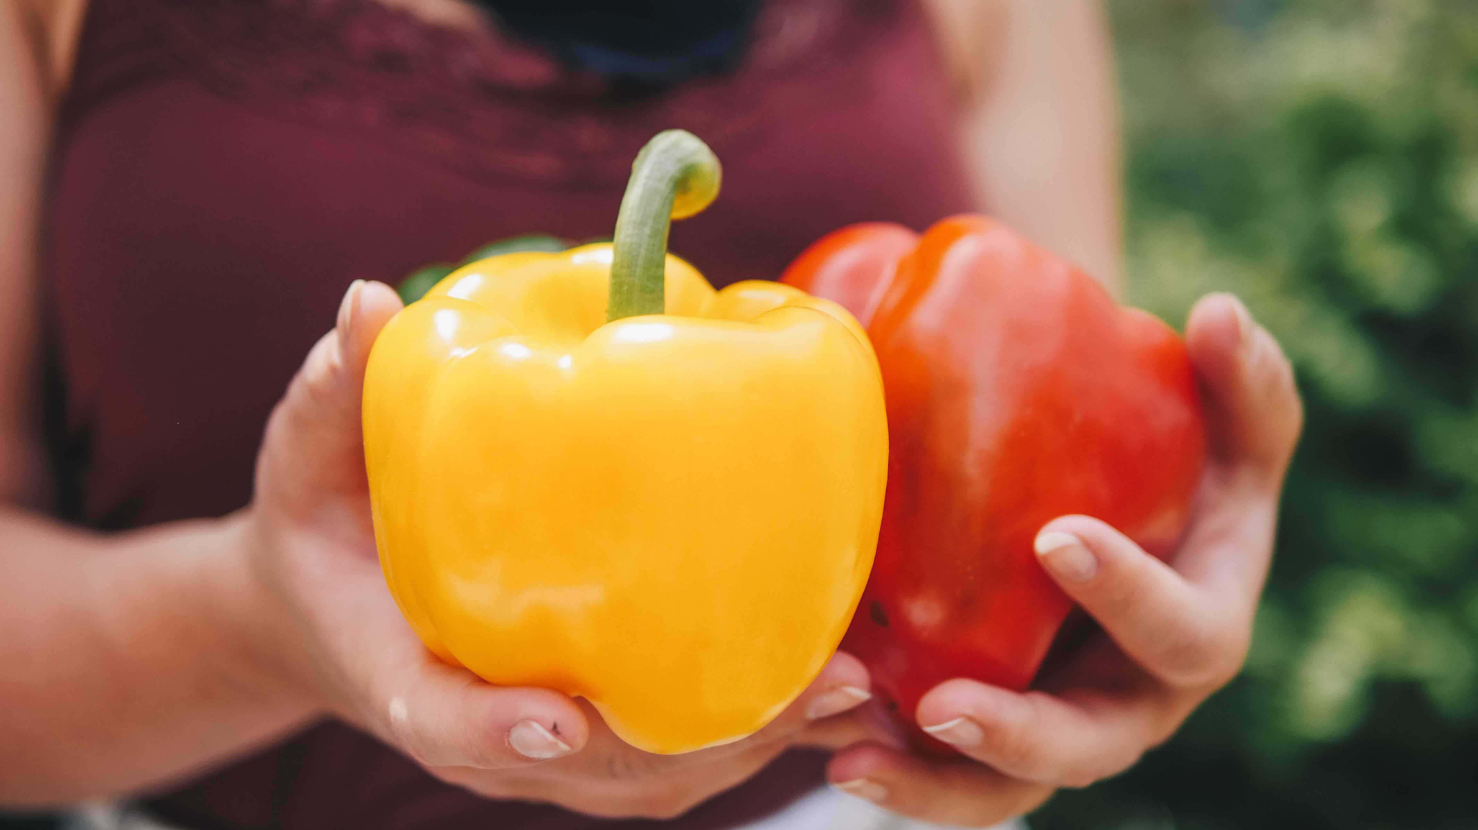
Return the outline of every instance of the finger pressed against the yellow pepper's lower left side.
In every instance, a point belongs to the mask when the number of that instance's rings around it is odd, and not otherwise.
[[[590,724],[575,700],[542,688],[489,685],[442,663],[420,642],[403,642],[403,654],[374,669],[395,679],[371,685],[372,725],[417,762],[504,769],[585,746]]]

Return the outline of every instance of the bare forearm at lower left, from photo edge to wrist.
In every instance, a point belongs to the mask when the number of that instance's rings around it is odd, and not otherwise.
[[[155,786],[313,715],[242,524],[98,536],[0,508],[0,803]]]

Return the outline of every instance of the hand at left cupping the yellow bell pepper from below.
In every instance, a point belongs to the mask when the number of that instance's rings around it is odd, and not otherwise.
[[[757,772],[816,716],[866,700],[866,669],[838,656],[761,733],[659,756],[616,738],[588,703],[494,687],[432,656],[380,573],[361,437],[370,347],[399,309],[389,287],[355,282],[268,424],[241,538],[268,604],[256,639],[269,672],[446,781],[607,817],[680,814]]]

